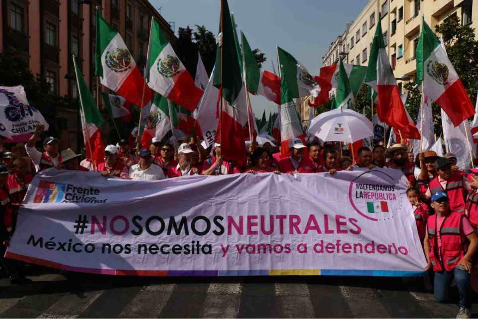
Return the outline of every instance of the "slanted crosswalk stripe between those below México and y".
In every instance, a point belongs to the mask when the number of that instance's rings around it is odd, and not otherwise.
[[[168,302],[175,284],[146,286],[124,307],[119,318],[156,318]]]

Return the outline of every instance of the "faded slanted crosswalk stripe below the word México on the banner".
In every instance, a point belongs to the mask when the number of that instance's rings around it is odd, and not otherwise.
[[[70,293],[61,297],[38,318],[77,318],[105,291],[85,291]]]

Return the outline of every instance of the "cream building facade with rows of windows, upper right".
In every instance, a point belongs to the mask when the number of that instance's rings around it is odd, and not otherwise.
[[[378,12],[381,20],[378,21]],[[415,49],[420,36],[421,19],[435,30],[451,15],[458,15],[464,25],[478,29],[478,3],[476,0],[369,0],[357,18],[348,23],[322,58],[323,66],[339,61],[368,65],[368,57],[376,23],[381,23],[383,40],[396,78],[415,77]],[[336,43],[341,43],[337,45]],[[402,81],[398,80],[399,89]]]

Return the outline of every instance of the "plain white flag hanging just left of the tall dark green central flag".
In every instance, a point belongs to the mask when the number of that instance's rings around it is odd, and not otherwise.
[[[193,117],[195,117],[199,123],[207,147],[214,143],[219,123],[217,116],[219,89],[213,85],[213,82],[214,69],[211,72],[211,78],[206,86],[206,90],[201,97],[201,102],[199,102],[197,113],[193,113]]]

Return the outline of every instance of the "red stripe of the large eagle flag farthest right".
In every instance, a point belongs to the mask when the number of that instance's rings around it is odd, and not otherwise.
[[[459,126],[475,114],[475,108],[460,79],[447,87],[435,102],[441,106],[455,126]]]

